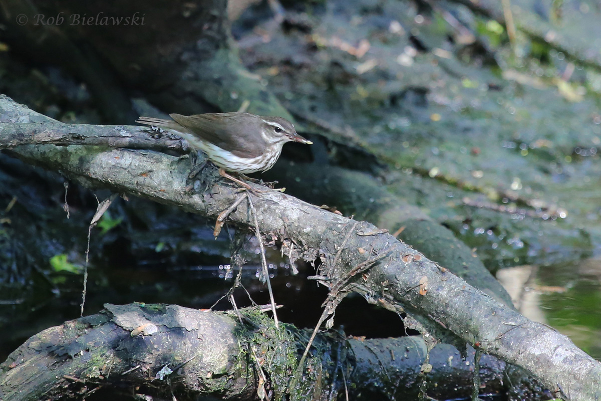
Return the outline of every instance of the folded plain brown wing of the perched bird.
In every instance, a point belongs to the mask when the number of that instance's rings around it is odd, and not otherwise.
[[[194,114],[186,117],[169,114],[188,132],[204,141],[228,150],[240,158],[256,158],[263,155],[267,142],[261,135],[258,116],[249,113]]]

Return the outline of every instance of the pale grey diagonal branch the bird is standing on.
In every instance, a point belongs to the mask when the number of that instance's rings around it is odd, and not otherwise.
[[[0,97],[0,115],[14,121],[9,118],[37,114]],[[185,191],[189,163],[151,151],[25,145],[11,154],[88,186],[128,192],[213,218],[230,206],[236,192],[220,184],[203,194],[189,194]],[[248,196],[257,210],[261,233],[287,244],[285,253],[293,260],[319,258],[319,275],[344,277],[371,255],[386,251],[369,271],[349,281],[347,290],[374,304],[405,310],[424,325],[449,330],[483,352],[523,367],[557,396],[601,399],[601,364],[569,338],[504,307],[390,234],[279,192]],[[228,218],[252,225],[243,203]],[[344,236],[349,239],[341,246]]]

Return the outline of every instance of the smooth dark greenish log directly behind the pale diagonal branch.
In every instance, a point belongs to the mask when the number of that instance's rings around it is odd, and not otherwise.
[[[392,235],[408,243],[430,260],[511,307],[511,298],[499,281],[473,256],[473,251],[446,227],[432,221],[415,205],[379,183],[369,174],[319,164],[281,164],[264,176],[285,182],[287,192],[313,204],[332,205],[345,215],[388,228]],[[295,180],[296,177],[311,179]]]

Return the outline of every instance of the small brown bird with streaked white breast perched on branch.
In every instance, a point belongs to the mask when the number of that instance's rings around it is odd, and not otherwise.
[[[219,167],[219,174],[245,188],[227,172],[250,174],[267,171],[278,161],[286,142],[311,145],[296,133],[294,125],[282,117],[262,117],[245,112],[169,114],[172,120],[139,117],[136,123],[171,130],[186,139],[192,148],[202,150]]]

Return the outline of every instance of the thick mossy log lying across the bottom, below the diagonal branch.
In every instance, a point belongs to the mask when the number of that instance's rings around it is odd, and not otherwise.
[[[105,308],[29,338],[0,365],[0,398],[82,398],[126,386],[138,389],[138,394],[175,394],[183,399],[201,394],[256,399],[258,391],[273,399],[272,394],[286,390],[284,372],[293,367],[290,364],[307,338],[307,331],[290,325],[276,330],[258,308],[237,313],[157,304],[106,304]],[[316,373],[314,380],[301,385],[305,394],[337,394],[345,385],[353,399],[391,394],[413,398],[419,393],[419,366],[428,353],[420,337],[347,340],[320,334],[316,343],[319,352],[310,355],[308,362]],[[281,355],[295,358],[258,357],[278,347]],[[473,361],[472,355],[467,361]],[[456,396],[469,394],[473,372],[456,349],[448,344],[435,347],[430,363],[429,396],[441,398],[451,389]],[[484,357],[481,375],[486,393],[506,390],[502,361]],[[276,388],[273,382],[284,386]]]

